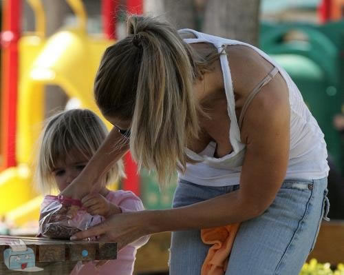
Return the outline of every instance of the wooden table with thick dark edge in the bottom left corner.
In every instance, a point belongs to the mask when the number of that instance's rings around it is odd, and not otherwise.
[[[19,240],[22,240],[26,247],[28,247],[27,252],[13,251],[13,247],[18,247],[18,245],[10,245],[10,243],[19,243]],[[10,254],[11,257],[20,258],[20,254],[29,254],[30,252],[34,255],[35,266],[43,268],[42,271],[35,272],[34,274],[64,275],[69,274],[78,261],[116,259],[117,243],[0,236],[0,274],[18,275],[19,273],[17,271],[10,270],[6,266],[6,261],[8,263],[8,255]],[[23,263],[22,268],[25,268],[25,265],[26,263]]]

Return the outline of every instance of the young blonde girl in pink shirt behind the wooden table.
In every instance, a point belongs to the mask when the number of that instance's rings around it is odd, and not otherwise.
[[[42,192],[63,191],[80,174],[106,136],[105,124],[90,110],[67,110],[50,117],[41,134],[36,169],[36,181]],[[140,198],[132,192],[107,189],[107,184],[120,176],[124,176],[122,161],[117,161],[100,179],[100,192],[89,194],[81,201],[86,211],[95,215],[89,226],[102,221],[100,216],[108,218],[122,212],[144,210]],[[45,196],[41,211],[51,198]],[[127,245],[118,252],[116,260],[104,265],[96,266],[96,261],[76,265],[72,274],[132,274],[136,250],[147,241],[148,237],[144,236]]]

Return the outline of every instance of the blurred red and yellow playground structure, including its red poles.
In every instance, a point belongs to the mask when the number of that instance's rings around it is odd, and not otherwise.
[[[80,101],[80,107],[99,114],[92,96],[93,79],[103,51],[116,37],[116,1],[101,1],[106,38],[87,34],[87,14],[82,1],[66,1],[76,14],[78,26],[56,32],[48,39],[41,0],[28,0],[36,17],[36,31],[23,37],[20,37],[21,0],[3,1],[3,10],[10,14],[6,16],[10,23],[3,30],[14,35],[14,39],[8,39],[9,50],[3,50],[10,58],[3,59],[7,61],[3,68],[7,70],[3,71],[6,77],[2,81],[6,89],[2,89],[0,171],[6,170],[0,173],[0,216],[6,215],[17,225],[37,220],[42,200],[33,190],[31,165],[43,122],[45,85],[60,86],[67,96]],[[127,0],[127,10],[142,13],[142,0]],[[129,153],[125,156],[125,172],[127,179],[122,181],[122,188],[140,195],[137,165]],[[110,188],[117,187],[114,183]]]

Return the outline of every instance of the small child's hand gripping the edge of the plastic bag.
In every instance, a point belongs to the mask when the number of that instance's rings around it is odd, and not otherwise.
[[[83,203],[83,207],[85,207],[87,212],[91,215],[100,215],[106,218],[112,214],[122,212],[120,207],[107,201],[101,194],[88,194],[81,202]]]

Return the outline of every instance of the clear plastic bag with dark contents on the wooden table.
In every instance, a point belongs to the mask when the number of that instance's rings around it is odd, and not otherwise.
[[[41,205],[39,232],[49,238],[69,239],[102,221],[102,216],[88,214],[79,200],[48,195]]]

